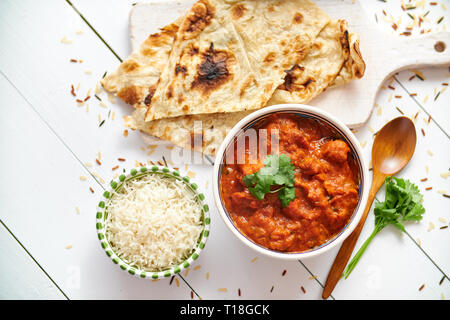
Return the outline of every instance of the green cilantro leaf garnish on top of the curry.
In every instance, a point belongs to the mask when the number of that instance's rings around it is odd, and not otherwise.
[[[278,192],[283,207],[295,199],[294,165],[285,154],[269,155],[264,160],[264,167],[256,173],[246,175],[242,181],[250,193],[258,200],[263,200],[267,193]],[[271,190],[272,186],[280,186]]]

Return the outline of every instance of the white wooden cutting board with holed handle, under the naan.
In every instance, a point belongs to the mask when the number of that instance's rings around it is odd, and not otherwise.
[[[184,14],[194,0],[158,1],[136,4],[130,13],[133,50],[148,37]],[[420,37],[395,36],[382,32],[372,23],[360,4],[351,0],[316,0],[315,3],[333,19],[346,19],[351,32],[360,35],[360,48],[366,62],[361,80],[329,89],[309,104],[337,116],[351,128],[362,126],[370,117],[383,81],[394,73],[430,65],[450,65],[450,33],[439,32]],[[435,50],[438,41],[443,52]]]

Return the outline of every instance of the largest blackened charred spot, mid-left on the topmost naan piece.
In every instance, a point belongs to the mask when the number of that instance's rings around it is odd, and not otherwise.
[[[224,83],[230,81],[233,75],[229,68],[234,58],[232,53],[215,50],[211,43],[209,49],[201,54],[201,62],[197,66],[197,74],[191,88],[208,94]]]

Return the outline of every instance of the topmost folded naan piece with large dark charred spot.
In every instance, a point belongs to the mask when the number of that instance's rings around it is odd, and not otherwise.
[[[145,120],[264,107],[328,21],[309,0],[199,0],[178,30]]]

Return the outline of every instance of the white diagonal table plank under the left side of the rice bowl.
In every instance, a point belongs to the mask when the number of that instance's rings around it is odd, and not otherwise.
[[[189,298],[183,282],[177,287],[138,279],[112,263],[94,226],[103,188],[3,75],[0,92],[0,104],[13,106],[0,119],[0,143],[8,150],[0,158],[5,181],[0,185],[0,219],[61,290],[70,299]],[[2,261],[5,254],[14,254],[3,245],[1,252]],[[10,268],[2,263],[2,274]],[[44,283],[36,292],[22,284],[17,283],[18,293],[47,295]]]

